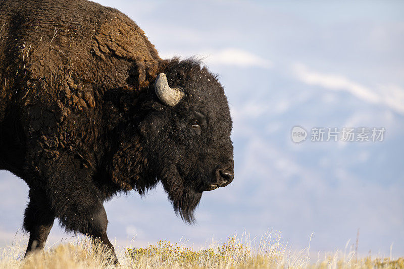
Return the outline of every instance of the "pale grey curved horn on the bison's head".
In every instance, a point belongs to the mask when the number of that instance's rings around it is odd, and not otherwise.
[[[167,77],[164,73],[160,73],[157,76],[155,90],[159,99],[169,106],[176,105],[184,96],[184,93],[179,89],[168,86]]]

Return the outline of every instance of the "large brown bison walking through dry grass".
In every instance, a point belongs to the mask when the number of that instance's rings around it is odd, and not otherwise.
[[[200,62],[161,59],[126,15],[86,0],[0,7],[0,169],[30,188],[26,255],[58,218],[117,262],[104,201],[161,182],[192,223],[202,193],[233,180],[228,101]]]

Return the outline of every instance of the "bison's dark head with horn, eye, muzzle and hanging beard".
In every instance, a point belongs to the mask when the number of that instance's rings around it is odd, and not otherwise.
[[[234,178],[232,121],[223,87],[198,62],[171,60],[155,83],[155,111],[140,131],[149,139],[149,160],[174,209],[184,221],[203,191]]]

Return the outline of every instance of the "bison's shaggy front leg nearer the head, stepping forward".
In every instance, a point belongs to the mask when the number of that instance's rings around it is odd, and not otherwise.
[[[64,156],[54,172],[55,179],[49,182],[55,184],[49,184],[48,188],[61,225],[67,231],[80,232],[93,240],[100,240],[111,250],[112,260],[117,264],[114,247],[107,236],[107,212],[102,194],[92,181],[92,172]]]

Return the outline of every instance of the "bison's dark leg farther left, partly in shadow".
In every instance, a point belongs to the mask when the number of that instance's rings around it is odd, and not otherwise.
[[[43,191],[31,189],[29,203],[24,214],[24,229],[29,233],[25,256],[35,250],[43,249],[47,236],[51,232],[55,215]]]

